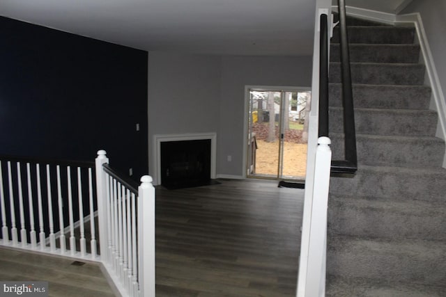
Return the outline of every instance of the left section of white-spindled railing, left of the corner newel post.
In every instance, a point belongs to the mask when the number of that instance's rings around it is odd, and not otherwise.
[[[93,162],[2,157],[0,244],[97,259],[94,220],[91,220],[91,240],[88,243],[84,232],[84,223],[95,214],[91,203],[95,199],[91,174],[93,165]],[[71,178],[72,170],[77,172],[74,179]],[[77,186],[73,188],[72,184]],[[69,209],[69,220],[64,214],[66,209]],[[84,213],[89,215],[84,216]],[[75,234],[77,228],[81,230],[80,234]],[[65,234],[68,230],[70,245],[67,249]],[[90,252],[86,252],[87,247]]]

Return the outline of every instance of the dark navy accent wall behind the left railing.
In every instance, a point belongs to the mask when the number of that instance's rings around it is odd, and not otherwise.
[[[0,154],[99,149],[134,179],[148,173],[147,52],[0,17]]]

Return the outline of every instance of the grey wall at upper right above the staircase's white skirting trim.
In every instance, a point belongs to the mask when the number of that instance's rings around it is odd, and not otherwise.
[[[446,94],[446,1],[414,0],[401,14],[420,13],[443,94]]]

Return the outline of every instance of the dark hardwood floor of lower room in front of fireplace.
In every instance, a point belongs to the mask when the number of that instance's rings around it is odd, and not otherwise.
[[[303,190],[220,182],[157,188],[157,297],[295,296]]]

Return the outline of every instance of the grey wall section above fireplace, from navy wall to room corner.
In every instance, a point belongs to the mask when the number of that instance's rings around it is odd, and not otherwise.
[[[219,56],[148,53],[148,164],[155,172],[153,136],[217,132]]]

